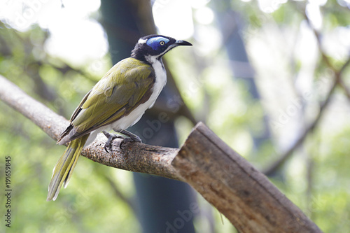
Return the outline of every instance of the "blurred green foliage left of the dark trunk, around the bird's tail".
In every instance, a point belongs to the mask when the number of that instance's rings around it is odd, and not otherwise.
[[[69,118],[95,80],[45,54],[43,42],[47,34],[40,28],[19,33],[4,24],[0,27],[1,40],[6,41],[0,45],[1,75]],[[35,57],[35,50],[43,55]],[[134,190],[129,172],[103,167],[84,157],[80,158],[69,184],[75,188],[64,190],[65,197],[57,202],[46,202],[52,169],[64,147],[57,146],[41,129],[2,101],[0,109],[3,160],[0,170],[4,169],[5,157],[10,156],[13,190],[11,228],[1,223],[1,232],[139,232],[132,209],[115,195],[106,179],[106,176],[111,177],[123,195],[132,197]],[[4,190],[3,172],[0,177]],[[1,195],[1,209],[5,202]]]

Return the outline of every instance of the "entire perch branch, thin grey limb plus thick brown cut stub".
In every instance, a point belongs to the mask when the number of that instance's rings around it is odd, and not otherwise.
[[[69,124],[0,76],[0,99],[41,127],[52,139]],[[113,141],[104,151],[102,135],[82,155],[101,164],[189,183],[221,211],[239,232],[321,232],[307,216],[243,157],[203,123],[181,149]]]

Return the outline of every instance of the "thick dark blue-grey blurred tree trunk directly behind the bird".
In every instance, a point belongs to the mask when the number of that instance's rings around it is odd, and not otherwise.
[[[139,3],[140,5],[145,3]],[[148,4],[151,4],[148,2]],[[102,24],[108,35],[113,64],[130,57],[130,52],[141,36],[155,33],[152,22],[140,22],[144,15],[150,14],[151,7],[136,8],[133,1],[102,0]],[[139,14],[139,15],[138,15]],[[150,29],[151,28],[151,29]],[[149,32],[150,30],[153,32]],[[160,93],[158,101],[167,102],[167,93],[172,93],[169,83]],[[172,119],[159,124],[159,113],[152,115],[146,111],[141,120],[130,129],[138,134],[144,143],[178,148],[178,141]],[[159,122],[159,121],[157,121]],[[134,173],[137,199],[139,204],[138,217],[144,233],[154,232],[195,232],[193,216],[183,216],[193,205],[192,189],[186,183],[173,181],[158,176]]]

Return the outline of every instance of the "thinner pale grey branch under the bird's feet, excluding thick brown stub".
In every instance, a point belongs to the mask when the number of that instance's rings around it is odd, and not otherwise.
[[[0,76],[0,99],[29,118],[52,139],[57,140],[59,134],[69,125],[68,120],[29,97],[3,76]],[[112,152],[106,153],[105,141],[103,134],[97,136],[90,146],[83,149],[82,155],[109,167],[179,179],[170,164],[179,149],[133,143],[132,146],[125,144],[126,150],[122,151],[119,149],[120,140],[115,140]]]

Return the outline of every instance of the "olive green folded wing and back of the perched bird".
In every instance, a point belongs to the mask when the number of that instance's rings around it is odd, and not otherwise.
[[[133,58],[118,62],[74,111],[71,129],[66,129],[69,141],[130,113],[149,99],[154,83],[155,73],[151,65]]]

